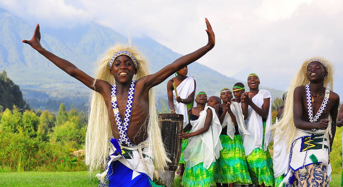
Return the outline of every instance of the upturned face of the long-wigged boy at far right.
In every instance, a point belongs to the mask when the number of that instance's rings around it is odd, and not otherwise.
[[[306,75],[309,81],[322,81],[328,76],[328,72],[320,62],[311,62],[307,66]]]

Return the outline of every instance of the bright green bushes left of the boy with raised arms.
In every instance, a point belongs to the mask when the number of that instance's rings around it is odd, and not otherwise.
[[[59,126],[47,111],[39,117],[33,110],[21,113],[16,107],[0,113],[0,171],[86,170],[83,157],[72,154],[83,148],[84,113],[61,108]]]

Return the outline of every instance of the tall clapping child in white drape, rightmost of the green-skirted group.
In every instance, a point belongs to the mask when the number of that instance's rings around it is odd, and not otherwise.
[[[256,186],[274,186],[272,159],[268,150],[271,141],[271,95],[259,90],[260,79],[255,73],[248,76],[250,92],[241,96],[246,128],[250,135],[243,136],[251,181]]]

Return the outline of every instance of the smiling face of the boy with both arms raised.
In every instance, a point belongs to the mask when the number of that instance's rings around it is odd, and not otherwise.
[[[137,74],[137,69],[130,57],[121,55],[114,60],[110,73],[116,83],[128,83],[132,81],[133,75]]]

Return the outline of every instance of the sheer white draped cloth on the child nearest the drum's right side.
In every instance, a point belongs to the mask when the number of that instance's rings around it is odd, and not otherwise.
[[[208,109],[212,110],[213,115],[211,126],[207,132],[188,138],[187,148],[183,152],[186,167],[193,167],[199,163],[203,163],[203,167],[208,169],[219,158],[219,151],[223,149],[219,139],[222,127],[214,108],[206,106],[200,112],[199,119],[191,120],[192,129],[190,132],[204,127]]]

